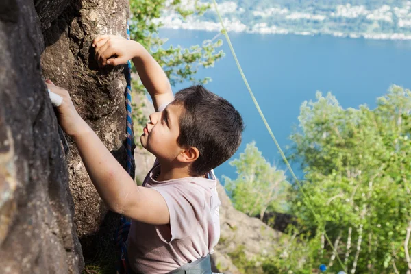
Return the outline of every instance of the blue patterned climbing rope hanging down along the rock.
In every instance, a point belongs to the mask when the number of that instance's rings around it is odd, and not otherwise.
[[[130,29],[127,23],[127,40],[130,39]],[[129,60],[127,62],[127,67],[124,70],[125,80],[127,82],[127,88],[125,90],[125,100],[127,105],[127,173],[132,176],[132,140],[133,140],[133,130],[132,130],[132,62]],[[116,249],[119,252],[116,270],[117,273],[129,273],[128,269],[128,259],[127,259],[127,237],[130,229],[130,222],[127,222],[124,216],[121,216],[121,226],[116,232]]]

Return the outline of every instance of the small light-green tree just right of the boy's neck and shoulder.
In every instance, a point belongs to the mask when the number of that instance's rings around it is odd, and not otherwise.
[[[255,142],[247,144],[240,158],[229,163],[238,177],[223,177],[234,207],[250,216],[264,216],[266,211],[283,211],[288,182],[284,171],[266,162]]]

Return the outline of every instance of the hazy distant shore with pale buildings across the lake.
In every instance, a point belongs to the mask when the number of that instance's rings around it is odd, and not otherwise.
[[[200,1],[201,2],[201,1]],[[245,0],[225,0],[218,4],[223,23],[230,32],[251,34],[295,34],[301,36],[334,36],[369,40],[411,40],[411,1],[402,5],[312,5],[301,8],[250,6],[243,8]],[[334,4],[333,4],[334,3]],[[244,3],[243,3],[244,4]],[[184,18],[169,10],[155,19],[168,29],[219,32],[221,23],[214,9],[202,16]]]

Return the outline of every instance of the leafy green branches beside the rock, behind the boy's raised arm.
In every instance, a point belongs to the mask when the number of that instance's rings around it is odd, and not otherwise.
[[[189,9],[193,3],[194,8]],[[151,51],[153,58],[162,66],[172,85],[184,81],[205,83],[208,79],[196,79],[199,66],[213,66],[216,60],[223,57],[223,51],[216,52],[216,48],[222,44],[221,40],[206,40],[203,44],[193,45],[189,49],[173,45],[164,49],[166,39],[158,36],[158,29],[162,27],[158,21],[164,10],[174,10],[179,12],[182,18],[188,15],[201,15],[208,10],[210,5],[203,5],[199,1],[188,1],[188,5],[183,5],[180,0],[132,0],[130,1],[132,10],[132,20],[130,24],[130,36],[132,40],[140,42],[146,49]],[[134,70],[135,71],[135,70]],[[142,90],[139,84],[135,88]]]

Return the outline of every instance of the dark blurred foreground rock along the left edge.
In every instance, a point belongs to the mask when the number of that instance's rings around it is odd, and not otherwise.
[[[0,2],[1,273],[80,273],[84,266],[64,149],[42,82],[41,26],[33,1]]]

